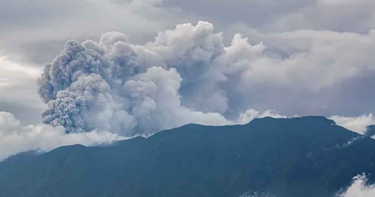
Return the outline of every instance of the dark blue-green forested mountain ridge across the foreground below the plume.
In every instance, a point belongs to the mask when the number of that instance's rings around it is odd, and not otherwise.
[[[351,143],[348,143],[351,142]],[[0,197],[329,197],[375,174],[375,140],[320,116],[189,124],[0,162]],[[369,177],[370,180],[372,176]]]

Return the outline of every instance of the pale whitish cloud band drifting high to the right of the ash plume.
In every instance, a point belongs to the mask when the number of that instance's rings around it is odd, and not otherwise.
[[[267,83],[298,92],[319,92],[375,71],[375,57],[371,55],[375,30],[366,34],[325,30],[260,33],[242,25],[233,28],[250,42],[265,46],[266,54],[248,63],[244,71],[248,86]]]

